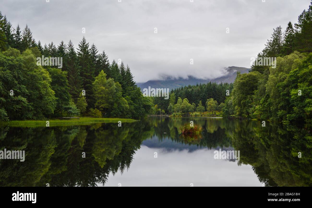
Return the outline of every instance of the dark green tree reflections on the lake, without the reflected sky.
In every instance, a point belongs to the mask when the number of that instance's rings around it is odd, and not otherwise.
[[[196,138],[179,132],[190,120],[204,129]],[[104,185],[110,173],[128,170],[142,141],[152,137],[208,149],[233,147],[240,150],[238,165],[250,164],[266,186],[312,186],[312,136],[307,128],[190,117],[149,118],[122,127],[1,127],[0,150],[25,150],[26,156],[24,162],[0,160],[0,186]]]

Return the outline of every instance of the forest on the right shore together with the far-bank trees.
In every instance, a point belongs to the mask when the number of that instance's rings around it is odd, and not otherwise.
[[[169,100],[155,98],[154,107],[160,114],[221,111],[224,117],[312,124],[311,52],[312,2],[297,23],[289,22],[285,31],[273,29],[250,72],[237,73],[234,83],[181,87],[171,91]],[[276,65],[258,65],[264,57],[276,57]]]

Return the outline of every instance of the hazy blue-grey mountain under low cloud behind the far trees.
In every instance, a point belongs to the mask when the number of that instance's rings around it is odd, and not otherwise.
[[[236,67],[236,66],[230,66],[227,67],[227,73],[222,76],[215,79],[199,79],[193,76],[188,76],[187,79],[184,78],[171,78],[167,77],[164,80],[149,80],[146,83],[136,83],[138,87],[143,90],[144,88],[169,88],[175,89],[182,86],[188,86],[188,85],[196,85],[197,83],[206,84],[208,82],[215,82],[215,83],[233,83],[236,78],[236,73],[241,72],[248,73],[248,68],[245,67]]]

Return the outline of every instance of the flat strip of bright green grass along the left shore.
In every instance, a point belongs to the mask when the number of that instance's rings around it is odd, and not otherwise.
[[[65,126],[65,125],[90,125],[92,123],[118,123],[136,121],[130,118],[92,118],[92,117],[80,117],[80,119],[46,119],[46,120],[27,120],[27,121],[0,121],[0,125],[12,126],[12,127],[46,127],[46,121],[50,122],[50,126]]]

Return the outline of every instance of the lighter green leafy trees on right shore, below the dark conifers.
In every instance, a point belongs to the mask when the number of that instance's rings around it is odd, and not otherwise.
[[[276,68],[264,74],[238,75],[231,96],[225,101],[223,116],[306,123],[312,119],[312,53],[295,51],[277,58]]]

